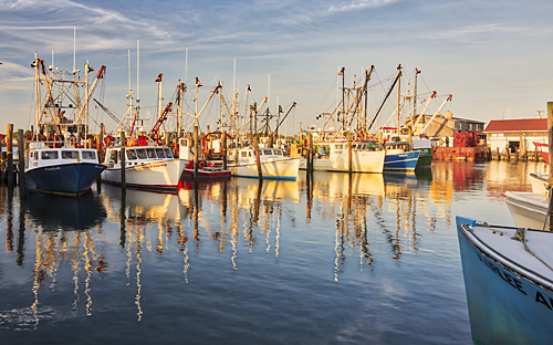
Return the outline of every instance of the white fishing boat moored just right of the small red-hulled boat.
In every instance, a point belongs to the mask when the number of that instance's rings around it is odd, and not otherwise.
[[[232,176],[259,178],[255,151],[252,147],[242,147],[230,150],[232,163],[228,168]],[[259,160],[261,174],[265,179],[291,179],[298,178],[300,157],[286,157],[280,148],[259,148]]]

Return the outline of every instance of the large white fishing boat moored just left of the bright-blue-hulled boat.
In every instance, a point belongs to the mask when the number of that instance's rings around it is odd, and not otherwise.
[[[348,171],[347,140],[322,142],[316,145],[313,170]],[[382,172],[385,155],[384,150],[376,150],[369,140],[352,142],[352,172]],[[306,168],[305,158],[302,158],[301,168]]]

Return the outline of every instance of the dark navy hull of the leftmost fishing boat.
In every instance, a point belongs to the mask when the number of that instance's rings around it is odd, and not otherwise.
[[[104,165],[93,163],[30,168],[25,170],[25,186],[40,192],[79,197],[90,190],[105,168]]]

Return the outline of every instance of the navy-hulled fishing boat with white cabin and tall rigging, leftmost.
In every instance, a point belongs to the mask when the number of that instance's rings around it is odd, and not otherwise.
[[[77,77],[77,71],[66,79],[64,71],[46,67],[44,60],[36,58],[32,67],[36,114],[25,159],[25,185],[40,192],[80,197],[105,169],[87,137],[87,103],[105,66],[91,86],[88,73],[94,69],[88,63],[84,65],[84,80]],[[84,95],[79,94],[80,88],[86,91]]]

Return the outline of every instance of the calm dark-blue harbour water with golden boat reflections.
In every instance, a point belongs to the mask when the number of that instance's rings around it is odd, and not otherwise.
[[[0,188],[0,342],[470,344],[455,216],[514,226],[543,163],[233,178],[79,200]]]

